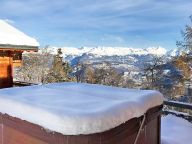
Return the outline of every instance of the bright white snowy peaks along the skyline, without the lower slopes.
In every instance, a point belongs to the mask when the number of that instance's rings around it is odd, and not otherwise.
[[[50,48],[54,53],[57,47]],[[129,47],[62,47],[63,54],[82,56],[83,54],[92,54],[96,56],[126,56],[126,55],[165,55],[167,50],[162,47],[149,47],[146,49],[129,48]]]

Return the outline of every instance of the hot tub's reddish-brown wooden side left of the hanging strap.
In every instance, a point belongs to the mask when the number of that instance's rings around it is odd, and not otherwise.
[[[135,140],[141,118],[134,118],[120,127],[90,135],[65,136],[46,132],[41,127],[9,115],[1,115],[2,144],[131,144]],[[0,143],[1,144],[1,143]]]

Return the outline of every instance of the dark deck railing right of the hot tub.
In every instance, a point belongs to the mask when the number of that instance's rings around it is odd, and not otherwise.
[[[163,114],[173,114],[192,122],[192,104],[165,100]]]

